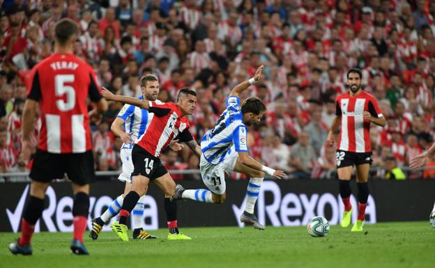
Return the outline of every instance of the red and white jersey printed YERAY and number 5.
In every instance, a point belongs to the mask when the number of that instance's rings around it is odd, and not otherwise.
[[[27,97],[39,102],[38,149],[80,153],[92,149],[88,97],[101,100],[96,74],[73,54],[53,54],[31,71]]]

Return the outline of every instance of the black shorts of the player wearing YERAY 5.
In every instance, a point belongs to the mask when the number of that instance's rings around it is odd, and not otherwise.
[[[29,174],[37,182],[51,182],[62,179],[65,173],[68,179],[79,185],[95,181],[92,151],[70,154],[54,154],[36,150],[33,165]]]

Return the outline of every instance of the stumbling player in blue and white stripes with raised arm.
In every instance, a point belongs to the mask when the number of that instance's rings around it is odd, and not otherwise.
[[[250,177],[246,191],[245,212],[241,215],[241,222],[250,224],[259,230],[264,226],[254,215],[261,183],[265,173],[274,178],[285,176],[283,171],[275,171],[263,166],[250,157],[247,150],[247,127],[258,123],[266,112],[266,105],[258,97],[250,97],[241,105],[238,97],[245,89],[257,83],[264,66],[261,65],[254,77],[238,84],[227,98],[227,109],[222,113],[215,127],[204,135],[201,140],[201,169],[202,181],[206,189],[185,190],[181,185],[176,186],[176,194],[172,200],[188,198],[206,203],[223,203],[226,198],[225,173],[236,171]]]

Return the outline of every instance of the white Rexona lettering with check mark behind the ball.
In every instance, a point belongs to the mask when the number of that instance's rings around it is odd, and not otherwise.
[[[265,194],[271,194],[272,203],[266,204]],[[238,217],[245,210],[245,200],[240,206],[232,205],[234,216],[238,226],[244,223],[238,221]],[[358,203],[354,196],[351,196],[353,207],[352,221],[356,221]],[[266,224],[266,219],[273,226],[305,226],[314,216],[325,216],[332,225],[339,224],[342,218],[344,207],[342,199],[330,193],[323,194],[293,194],[283,196],[278,184],[273,181],[264,181],[261,185],[259,198],[257,200],[257,216],[261,224]],[[326,213],[328,211],[328,213]],[[366,222],[376,223],[376,204],[374,198],[369,196],[365,210]],[[329,215],[329,216],[328,216]]]

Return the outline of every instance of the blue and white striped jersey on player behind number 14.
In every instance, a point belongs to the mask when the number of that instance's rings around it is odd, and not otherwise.
[[[138,97],[139,100],[144,100],[142,96]],[[155,102],[162,103],[160,100],[155,100]],[[130,104],[125,104],[121,111],[119,111],[118,116],[124,120],[124,131],[126,133],[132,133],[131,139],[134,143],[139,141],[140,137],[148,129],[151,120],[153,120],[154,113],[148,113],[146,109],[140,109]],[[125,144],[121,146],[121,149],[132,149],[133,144]]]

